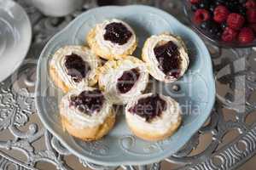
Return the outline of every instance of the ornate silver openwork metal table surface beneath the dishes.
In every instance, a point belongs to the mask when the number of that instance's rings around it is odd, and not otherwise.
[[[0,169],[136,169],[136,166],[122,165],[102,167],[73,156],[44,128],[34,106],[37,59],[45,43],[77,15],[95,8],[95,1],[88,0],[82,9],[60,18],[46,17],[24,0],[17,2],[29,14],[33,38],[20,69],[0,82]],[[189,26],[178,0],[109,2],[150,3]],[[161,165],[166,169],[235,169],[255,155],[256,52],[253,48],[218,48],[205,42],[212,55],[217,87],[211,116],[182,150],[162,162],[139,169],[158,170]]]

